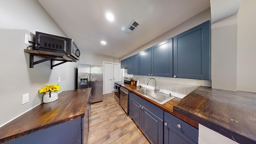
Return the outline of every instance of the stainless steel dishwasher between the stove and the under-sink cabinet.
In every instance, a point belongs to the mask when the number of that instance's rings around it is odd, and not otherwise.
[[[129,115],[129,90],[126,90],[122,86],[120,87],[120,105],[126,114]]]

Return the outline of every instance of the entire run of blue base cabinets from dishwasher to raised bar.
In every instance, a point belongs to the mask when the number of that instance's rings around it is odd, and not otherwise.
[[[198,129],[129,92],[129,116],[153,144],[198,144]]]

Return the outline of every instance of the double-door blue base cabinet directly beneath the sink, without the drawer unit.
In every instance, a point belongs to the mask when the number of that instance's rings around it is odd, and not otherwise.
[[[163,144],[164,110],[129,92],[129,116],[153,144]]]

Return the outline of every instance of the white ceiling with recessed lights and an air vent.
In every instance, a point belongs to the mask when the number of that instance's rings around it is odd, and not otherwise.
[[[38,0],[80,51],[120,58],[210,7],[210,0]],[[106,20],[106,12],[114,21]],[[126,27],[141,25],[128,35]],[[107,44],[102,46],[101,40]],[[112,54],[114,52],[114,54]]]

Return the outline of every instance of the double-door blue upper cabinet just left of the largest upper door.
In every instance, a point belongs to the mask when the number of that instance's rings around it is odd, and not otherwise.
[[[172,77],[172,41],[170,38],[140,52],[140,75]]]

